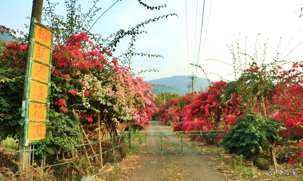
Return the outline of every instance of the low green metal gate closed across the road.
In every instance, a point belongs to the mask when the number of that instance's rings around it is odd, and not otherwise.
[[[224,131],[131,133],[131,145],[138,154],[224,152],[218,146],[223,135]]]

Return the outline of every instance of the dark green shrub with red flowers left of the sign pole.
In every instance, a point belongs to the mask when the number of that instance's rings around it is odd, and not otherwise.
[[[27,45],[9,43],[0,55],[0,141],[20,133]]]

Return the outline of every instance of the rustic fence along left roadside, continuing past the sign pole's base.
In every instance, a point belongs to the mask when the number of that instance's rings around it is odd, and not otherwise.
[[[105,163],[114,163],[122,160],[126,155],[126,151],[130,148],[129,136],[129,133],[117,137],[108,135],[108,139],[92,143],[87,139],[83,144],[75,146],[77,151],[59,151],[57,154],[48,154],[46,159],[34,154],[37,150],[37,145],[30,145],[29,149],[18,152],[26,155],[25,160],[27,163],[32,163],[35,160],[35,163],[45,170],[54,170],[57,180],[81,180],[84,176],[96,173],[97,169],[101,169]],[[93,141],[92,138],[91,141]],[[0,152],[1,167],[10,168],[16,173],[17,164],[12,159],[17,160],[17,158],[12,158],[12,156]],[[23,164],[23,168],[24,166],[25,164]],[[19,167],[22,168],[22,164]]]

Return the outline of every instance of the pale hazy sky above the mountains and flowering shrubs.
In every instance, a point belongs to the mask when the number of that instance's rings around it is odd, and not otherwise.
[[[50,0],[50,2],[59,2],[60,5],[56,13],[66,14],[63,0]],[[102,10],[96,17],[100,16],[114,2],[116,2],[116,0],[101,0],[98,2],[97,6],[101,7]],[[192,72],[194,75],[204,78],[205,76],[201,70],[196,74],[196,68],[193,69],[191,65],[188,65],[189,63],[197,63],[198,61],[197,52],[200,43],[199,35],[201,30],[203,0],[198,0],[198,6],[196,0],[187,0],[188,47],[185,0],[142,0],[142,2],[150,6],[166,4],[167,8],[161,8],[160,10],[154,9],[151,11],[142,7],[137,0],[122,0],[100,18],[91,32],[101,33],[103,37],[107,37],[119,29],[128,30],[150,18],[176,13],[178,17],[168,17],[167,19],[165,18],[157,22],[149,23],[142,28],[142,30],[147,31],[147,34],[138,35],[136,38],[134,52],[161,54],[164,58],[134,57],[131,68],[134,69],[135,72],[154,68],[160,71],[159,73],[141,74],[144,80],[153,80],[174,75],[189,75],[192,74]],[[0,25],[27,31],[24,24],[30,23],[26,17],[31,15],[32,0],[0,0],[0,4],[2,14]],[[82,13],[85,13],[88,11],[88,8],[92,6],[93,2],[90,0],[78,0],[78,4],[82,7]],[[46,1],[43,5],[47,6]],[[219,74],[223,78],[232,80],[234,76],[228,75],[232,74],[232,66],[211,60],[204,60],[216,59],[226,63],[232,63],[232,56],[226,44],[235,46],[235,36],[238,37],[239,33],[241,50],[244,51],[245,49],[244,45],[247,37],[246,49],[250,54],[254,53],[256,37],[259,33],[258,45],[263,46],[266,39],[269,39],[266,49],[266,58],[268,58],[268,61],[270,61],[271,55],[276,53],[280,38],[282,38],[282,41],[279,52],[282,53],[291,40],[291,37],[296,33],[285,53],[282,55],[283,57],[293,47],[303,41],[303,32],[299,31],[303,29],[303,17],[299,18],[302,6],[303,2],[299,0],[206,0],[198,64],[206,70],[211,80],[217,81],[220,79],[220,77],[212,74],[212,72]],[[196,11],[198,11],[197,15]],[[125,38],[125,40],[117,46],[114,55],[118,56],[124,53],[129,40],[130,37]],[[205,47],[203,47],[204,40],[206,40]],[[291,62],[301,61],[302,50],[303,45],[289,54],[287,60]],[[186,85],[184,86],[186,88]]]

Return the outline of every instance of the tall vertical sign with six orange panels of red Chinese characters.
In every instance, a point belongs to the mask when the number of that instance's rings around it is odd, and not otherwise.
[[[28,54],[25,146],[45,138],[48,121],[53,32],[32,19]]]

